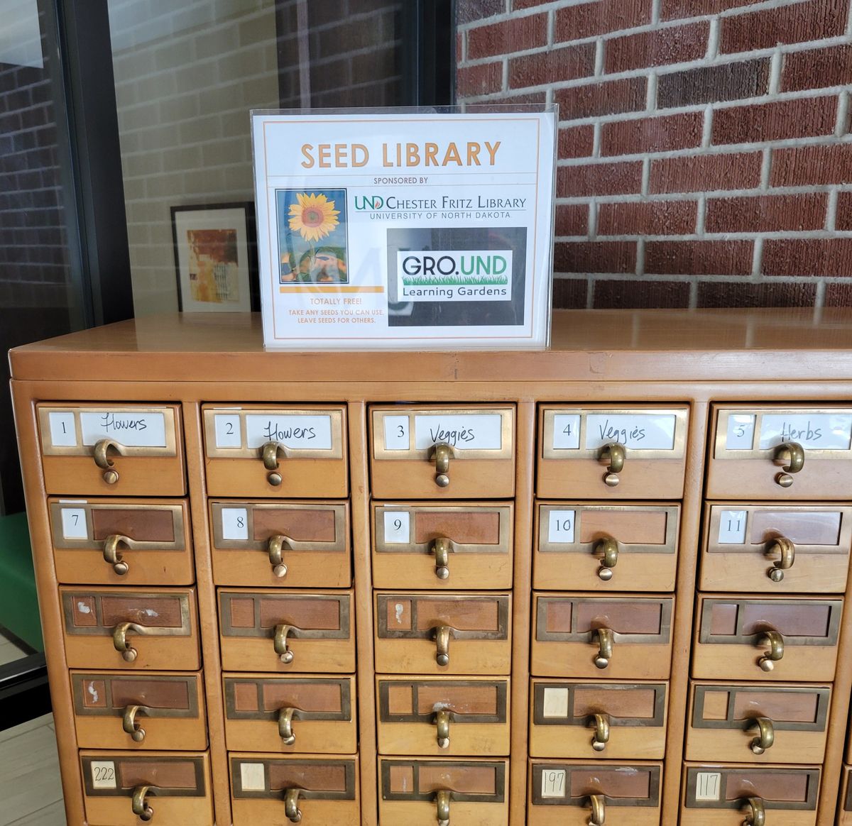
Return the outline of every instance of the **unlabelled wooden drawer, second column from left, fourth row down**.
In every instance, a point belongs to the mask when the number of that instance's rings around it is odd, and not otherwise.
[[[355,678],[225,674],[225,737],[231,751],[354,754]]]

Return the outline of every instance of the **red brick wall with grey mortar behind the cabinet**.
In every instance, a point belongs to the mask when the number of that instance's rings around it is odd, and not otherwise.
[[[554,306],[852,305],[850,0],[458,0],[459,102],[557,103]]]

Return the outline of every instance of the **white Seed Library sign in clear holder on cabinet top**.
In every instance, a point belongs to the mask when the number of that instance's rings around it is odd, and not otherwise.
[[[267,347],[545,347],[555,112],[252,113]]]

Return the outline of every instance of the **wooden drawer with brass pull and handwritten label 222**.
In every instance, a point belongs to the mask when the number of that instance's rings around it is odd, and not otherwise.
[[[82,751],[80,762],[89,826],[213,823],[208,754]]]

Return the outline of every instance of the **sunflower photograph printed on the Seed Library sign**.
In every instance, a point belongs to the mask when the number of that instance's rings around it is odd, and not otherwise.
[[[279,189],[279,284],[347,284],[346,190]]]

